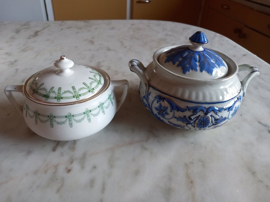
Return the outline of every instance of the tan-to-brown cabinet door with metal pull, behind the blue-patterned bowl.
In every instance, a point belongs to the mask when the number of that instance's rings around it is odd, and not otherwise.
[[[133,0],[132,19],[152,19],[198,25],[202,1]]]

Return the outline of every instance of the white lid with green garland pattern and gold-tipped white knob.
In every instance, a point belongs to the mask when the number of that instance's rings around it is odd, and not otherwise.
[[[102,69],[74,64],[62,55],[54,66],[32,75],[24,92],[35,102],[73,104],[100,95],[109,85],[110,77]]]

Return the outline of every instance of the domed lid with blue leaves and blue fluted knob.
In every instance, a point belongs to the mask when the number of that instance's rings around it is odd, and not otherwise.
[[[197,31],[189,41],[192,45],[182,45],[164,51],[158,63],[167,70],[184,77],[196,79],[223,78],[228,73],[226,62],[213,50],[203,48],[208,39],[202,31]]]

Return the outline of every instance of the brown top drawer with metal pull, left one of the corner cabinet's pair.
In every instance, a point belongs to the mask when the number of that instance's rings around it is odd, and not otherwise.
[[[229,16],[230,18],[233,18],[241,23],[245,22],[245,13],[250,10],[248,7],[230,0],[209,0],[205,3],[208,4],[208,7],[217,10],[218,12],[223,13],[224,15]]]

